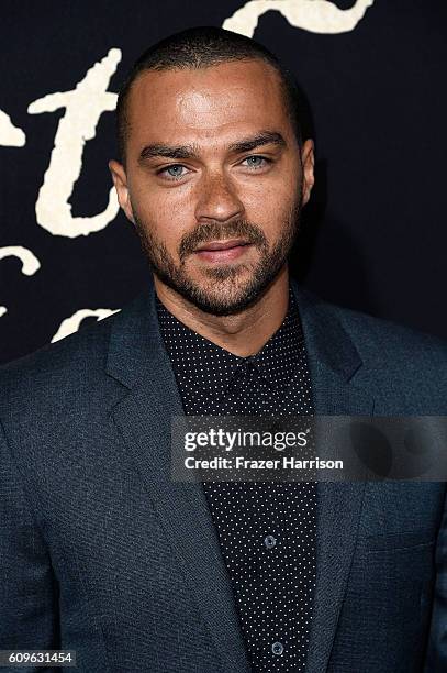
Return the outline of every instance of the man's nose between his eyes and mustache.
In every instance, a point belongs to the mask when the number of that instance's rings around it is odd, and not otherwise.
[[[198,222],[209,220],[226,222],[244,212],[244,206],[234,186],[221,173],[203,176],[198,185],[198,190],[199,198],[195,205]]]

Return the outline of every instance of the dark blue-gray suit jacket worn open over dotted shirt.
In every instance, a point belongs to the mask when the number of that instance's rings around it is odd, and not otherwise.
[[[293,288],[317,413],[446,415],[444,343]],[[182,408],[152,293],[0,385],[0,649],[76,650],[79,673],[248,672],[203,488],[170,478]],[[308,673],[447,671],[445,494],[319,484]]]

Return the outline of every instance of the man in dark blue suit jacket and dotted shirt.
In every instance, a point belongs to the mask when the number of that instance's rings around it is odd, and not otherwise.
[[[0,647],[82,673],[446,670],[444,483],[170,477],[177,415],[446,410],[443,343],[289,277],[314,181],[290,75],[193,29],[141,57],[118,120],[154,283],[1,372]]]

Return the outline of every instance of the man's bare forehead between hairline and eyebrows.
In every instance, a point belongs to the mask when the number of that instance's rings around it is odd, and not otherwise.
[[[278,73],[260,60],[148,70],[127,101],[128,144],[228,140],[259,129],[292,133]]]

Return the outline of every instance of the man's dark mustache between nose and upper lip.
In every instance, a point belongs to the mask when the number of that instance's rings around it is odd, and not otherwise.
[[[180,262],[183,262],[202,243],[231,238],[245,239],[247,243],[258,247],[267,246],[267,239],[262,230],[247,220],[233,220],[225,224],[222,222],[205,222],[182,236],[179,245]]]

